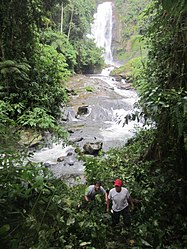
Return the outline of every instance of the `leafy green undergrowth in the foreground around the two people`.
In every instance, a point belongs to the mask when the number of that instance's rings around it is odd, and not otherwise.
[[[123,148],[105,157],[86,157],[87,184],[95,179],[105,189],[121,178],[134,200],[132,226],[115,230],[104,199],[96,206],[77,209],[85,188],[69,187],[42,165],[31,163],[25,152],[0,159],[0,236],[3,248],[186,248],[187,220],[180,202],[182,182],[162,165],[146,161],[154,131],[142,131]],[[172,167],[171,167],[172,168]],[[174,188],[175,186],[175,188]]]

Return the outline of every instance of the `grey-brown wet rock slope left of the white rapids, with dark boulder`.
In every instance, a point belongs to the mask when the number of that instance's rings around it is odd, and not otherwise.
[[[98,78],[97,78],[98,77]],[[111,81],[115,82],[113,78]],[[112,83],[113,83],[112,82]],[[71,130],[70,141],[74,141],[80,148],[87,142],[103,141],[102,149],[107,151],[116,144],[124,144],[119,137],[111,135],[108,139],[103,134],[112,122],[118,122],[120,117],[115,116],[115,110],[126,110],[132,108],[131,103],[124,101],[124,97],[116,93],[114,86],[103,81],[103,78],[95,75],[75,75],[68,82],[68,86],[76,89],[76,95],[70,95],[68,106],[62,110],[62,125]],[[87,87],[93,91],[87,91]],[[119,91],[132,90],[132,86],[125,82],[115,82],[115,87]],[[116,119],[116,120],[115,120]],[[118,143],[119,142],[119,143]]]

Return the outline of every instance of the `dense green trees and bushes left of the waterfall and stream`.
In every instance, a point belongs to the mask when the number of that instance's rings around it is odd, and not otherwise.
[[[0,7],[2,113],[18,125],[59,132],[54,118],[67,101],[64,82],[73,72],[93,72],[103,65],[101,51],[86,38],[95,5],[88,0],[14,0]]]

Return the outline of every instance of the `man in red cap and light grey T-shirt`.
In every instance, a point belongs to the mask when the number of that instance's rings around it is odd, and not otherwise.
[[[112,225],[117,225],[120,222],[120,215],[122,215],[124,224],[129,227],[131,225],[129,204],[132,209],[134,204],[128,189],[122,187],[122,185],[123,182],[120,179],[116,179],[114,188],[112,188],[108,194],[108,200],[112,201]],[[107,211],[109,211],[109,201],[107,203]]]

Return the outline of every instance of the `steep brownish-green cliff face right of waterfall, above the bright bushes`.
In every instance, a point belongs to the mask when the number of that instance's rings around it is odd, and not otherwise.
[[[119,63],[136,57],[140,44],[139,15],[150,0],[113,0],[113,58]],[[136,41],[136,42],[135,42]]]

